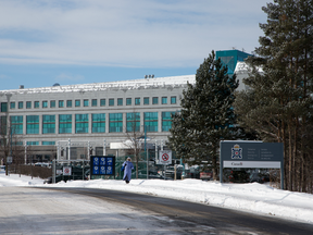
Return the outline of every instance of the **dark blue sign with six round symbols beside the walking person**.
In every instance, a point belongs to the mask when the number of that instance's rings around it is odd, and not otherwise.
[[[114,175],[115,157],[112,156],[90,156],[90,175]]]

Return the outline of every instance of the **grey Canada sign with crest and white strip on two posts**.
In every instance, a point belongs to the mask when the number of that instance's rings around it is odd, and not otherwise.
[[[220,143],[220,181],[224,168],[280,169],[280,187],[284,189],[284,145],[224,140]]]

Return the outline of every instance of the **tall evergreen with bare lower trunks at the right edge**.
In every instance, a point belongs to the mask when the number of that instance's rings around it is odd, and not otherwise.
[[[236,97],[235,112],[240,126],[265,141],[284,143],[285,187],[305,190],[304,175],[312,171],[304,168],[305,159],[310,162],[304,136],[312,125],[313,1],[274,0],[262,10],[264,36],[256,57],[247,60],[251,73],[245,84],[251,89]]]

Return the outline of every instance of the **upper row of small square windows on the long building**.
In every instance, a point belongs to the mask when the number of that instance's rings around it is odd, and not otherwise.
[[[109,107],[113,107],[115,106],[115,101],[117,106],[124,106],[124,99],[123,98],[117,98],[115,99],[109,99]],[[141,98],[135,98],[135,106],[140,106],[141,103]],[[50,108],[55,108],[57,107],[57,102],[58,102],[58,107],[59,108],[64,108],[66,106],[66,108],[72,108],[73,106],[75,107],[89,107],[89,99],[84,99],[83,102],[82,100],[50,100]],[[150,100],[150,97],[143,97],[143,106],[146,104],[159,104],[159,97],[152,97],[152,99]],[[177,100],[176,100],[176,96],[171,97],[171,104],[176,104]],[[32,101],[26,101],[26,109],[32,109]],[[99,100],[100,107],[105,107],[107,104],[107,100],[105,99],[100,99]],[[126,106],[132,106],[133,103],[133,99],[132,98],[126,98]],[[162,97],[161,98],[161,103],[162,104],[167,104],[167,97]],[[3,103],[3,110],[2,110],[2,103],[1,103],[1,112],[7,112],[7,104],[4,108]],[[49,102],[47,100],[41,102],[41,108],[48,108]],[[40,102],[39,101],[34,101],[33,103],[34,109],[38,109],[40,107]],[[98,99],[91,99],[91,107],[98,107]],[[16,103],[14,101],[10,102],[10,109],[16,109]],[[17,109],[24,109],[24,101],[18,101],[17,102]]]

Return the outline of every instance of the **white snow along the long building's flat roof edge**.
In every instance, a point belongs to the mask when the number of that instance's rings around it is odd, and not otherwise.
[[[132,81],[118,81],[108,83],[92,83],[92,84],[78,84],[78,85],[65,85],[65,86],[51,86],[40,88],[28,88],[28,89],[11,89],[1,90],[0,94],[36,94],[36,92],[73,92],[73,91],[97,91],[107,89],[146,89],[149,87],[180,87],[185,86],[189,82],[190,84],[196,83],[196,75],[184,75],[184,76],[171,76],[171,77],[154,77],[154,78],[142,78]]]

